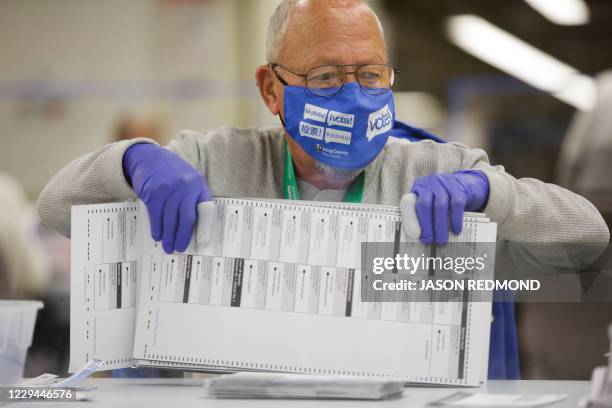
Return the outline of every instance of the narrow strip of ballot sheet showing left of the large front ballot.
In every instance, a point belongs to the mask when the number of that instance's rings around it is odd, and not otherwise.
[[[133,363],[141,216],[136,202],[72,207],[70,372]]]

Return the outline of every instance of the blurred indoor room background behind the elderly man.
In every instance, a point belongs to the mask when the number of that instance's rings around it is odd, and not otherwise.
[[[65,374],[69,347],[70,243],[29,203],[114,140],[276,124],[254,71],[278,3],[0,0],[0,298],[45,302],[26,376]],[[398,119],[583,194],[610,225],[612,1],[369,3],[400,70]],[[612,305],[517,312],[523,378],[587,379],[604,362]]]

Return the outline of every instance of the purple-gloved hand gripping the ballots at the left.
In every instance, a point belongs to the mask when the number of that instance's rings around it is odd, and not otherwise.
[[[151,236],[164,251],[187,249],[197,220],[197,205],[211,201],[202,173],[177,154],[151,143],[130,146],[123,173],[149,212]]]

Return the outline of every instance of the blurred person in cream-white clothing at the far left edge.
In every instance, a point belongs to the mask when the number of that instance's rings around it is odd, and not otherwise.
[[[0,299],[40,298],[49,261],[35,234],[36,215],[23,188],[0,172]]]

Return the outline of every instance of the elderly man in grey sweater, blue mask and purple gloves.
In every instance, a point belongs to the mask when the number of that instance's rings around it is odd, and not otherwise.
[[[412,192],[425,243],[459,233],[464,211],[486,212],[500,240],[608,241],[585,199],[517,180],[482,150],[394,122],[395,72],[365,4],[285,0],[270,21],[267,58],[255,76],[283,127],[185,131],[166,148],[147,139],[107,145],[49,182],[39,200],[43,220],[68,235],[71,205],[139,197],[153,239],[172,252],[185,250],[197,204],[213,196],[398,205]],[[404,217],[414,214],[401,207]],[[494,308],[490,378],[518,376],[511,306]]]

